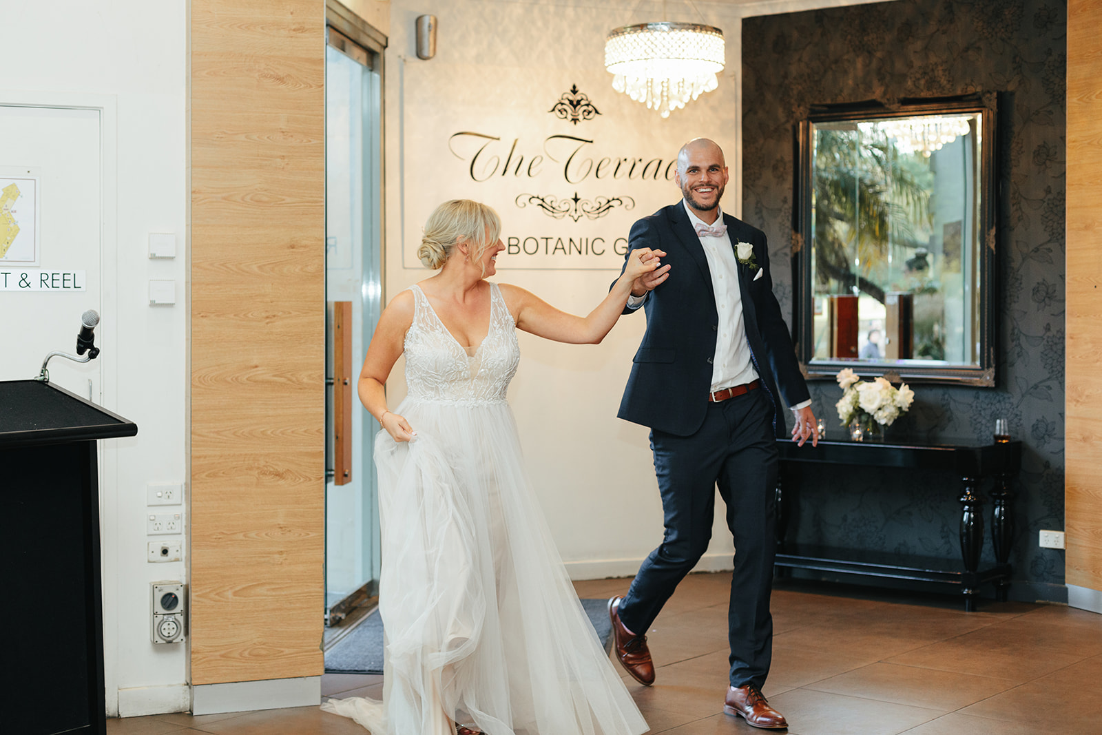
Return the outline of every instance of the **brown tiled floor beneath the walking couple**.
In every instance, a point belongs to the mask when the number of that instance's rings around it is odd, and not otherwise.
[[[628,580],[579,582],[582,597]],[[627,679],[652,733],[763,732],[723,714],[730,575],[685,579],[648,634],[653,687]],[[1102,616],[1055,605],[982,604],[784,582],[774,592],[765,694],[791,735],[1102,733]],[[381,677],[326,674],[328,696],[381,696]],[[111,735],[364,735],[316,707],[112,720]],[[571,735],[555,733],[552,735]]]

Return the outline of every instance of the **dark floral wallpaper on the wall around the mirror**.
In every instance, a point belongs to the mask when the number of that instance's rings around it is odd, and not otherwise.
[[[914,386],[915,404],[889,431],[986,437],[996,418],[1008,420],[1024,443],[1011,559],[1011,596],[1019,599],[1067,598],[1063,552],[1037,545],[1039,529],[1063,529],[1066,24],[1067,6],[1056,0],[897,0],[743,22],[743,216],[769,236],[786,313],[792,309],[785,266],[793,126],[809,107],[1006,93],[1000,109],[998,386]],[[810,387],[828,432],[841,432],[838,386]],[[988,489],[986,560],[993,558]],[[817,471],[813,483],[803,483],[793,536],[959,558],[959,495],[957,478],[938,474]]]

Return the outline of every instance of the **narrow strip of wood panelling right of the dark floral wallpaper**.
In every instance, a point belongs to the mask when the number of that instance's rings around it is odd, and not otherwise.
[[[1067,583],[1102,590],[1102,0],[1068,2]]]

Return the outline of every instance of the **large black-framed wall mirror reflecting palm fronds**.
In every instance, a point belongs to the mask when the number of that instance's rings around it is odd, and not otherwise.
[[[810,247],[797,322],[809,375],[867,366],[991,380],[987,115],[973,107],[806,123],[799,229]]]

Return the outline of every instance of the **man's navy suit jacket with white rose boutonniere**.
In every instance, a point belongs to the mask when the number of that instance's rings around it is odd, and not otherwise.
[[[785,421],[778,388],[787,406],[807,400],[808,388],[773,294],[765,233],[728,215],[723,216],[723,221],[732,247],[739,241],[752,244],[754,259],[761,269],[755,280],[757,271],[738,263],[738,285],[754,367],[773,400],[774,429],[779,435]],[[665,250],[662,263],[671,268],[669,278],[644,302],[647,332],[635,355],[617,415],[689,436],[700,429],[707,410],[719,323],[704,248],[681,202],[635,223],[628,248]]]

